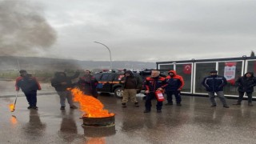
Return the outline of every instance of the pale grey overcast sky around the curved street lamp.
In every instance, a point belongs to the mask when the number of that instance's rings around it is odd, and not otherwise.
[[[162,62],[250,56],[255,0],[31,0],[55,30],[38,56]]]

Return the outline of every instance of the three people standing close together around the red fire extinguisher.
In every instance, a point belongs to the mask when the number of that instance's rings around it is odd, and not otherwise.
[[[134,77],[132,71],[127,70],[125,72],[125,77],[121,79],[123,84],[123,94],[122,94],[122,107],[126,107],[126,102],[130,97],[131,102],[138,107],[138,101],[136,100],[136,91],[142,89],[142,80],[140,78]],[[182,98],[180,92],[184,86],[184,81],[182,76],[176,74],[175,70],[170,70],[166,78],[160,76],[158,70],[152,70],[150,77],[147,77],[143,86],[145,86],[146,102],[144,113],[149,113],[151,110],[151,100],[155,98],[155,93],[161,91],[164,93],[166,91],[167,103],[166,106],[173,105],[172,95],[174,94],[176,98],[177,106],[182,106]],[[157,112],[162,112],[162,101],[157,102]]]

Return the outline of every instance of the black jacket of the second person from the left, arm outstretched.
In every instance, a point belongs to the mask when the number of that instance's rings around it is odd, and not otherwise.
[[[61,76],[64,74],[64,76]],[[78,78],[79,72],[76,72],[72,77],[67,77],[64,72],[56,72],[54,78],[51,80],[51,86],[54,86],[56,91],[65,91],[67,88],[73,87],[72,79]],[[66,85],[62,85],[62,82],[66,82]]]

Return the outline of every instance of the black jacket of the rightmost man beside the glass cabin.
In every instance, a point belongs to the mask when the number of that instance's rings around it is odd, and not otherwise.
[[[254,86],[256,86],[256,78],[253,73],[251,73],[252,75],[250,78],[246,78],[246,74],[238,78],[235,84],[238,86],[239,92],[252,93],[254,91]]]

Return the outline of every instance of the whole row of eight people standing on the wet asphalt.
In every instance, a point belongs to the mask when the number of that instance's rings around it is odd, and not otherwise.
[[[27,74],[26,70],[20,70],[20,77],[16,79],[16,90],[19,91],[22,89],[22,92],[26,95],[27,102],[29,103],[28,109],[38,109],[37,106],[37,90],[41,90],[41,86],[38,83],[38,80],[32,77],[31,74]],[[70,105],[70,109],[77,109],[77,106],[74,106],[72,95],[70,90],[71,88],[77,86],[84,94],[92,95],[94,98],[98,98],[97,86],[98,81],[94,76],[90,74],[90,70],[85,70],[84,75],[79,78],[78,82],[72,82],[73,79],[78,78],[79,71],[77,70],[73,76],[66,76],[64,72],[56,72],[54,78],[51,79],[51,86],[54,86],[60,97],[61,110],[66,108],[66,99]],[[151,70],[150,77],[147,77],[142,82],[142,78],[134,76],[133,72],[126,70],[124,77],[120,80],[123,88],[123,98],[122,98],[122,107],[126,107],[128,99],[131,99],[131,102],[134,102],[135,107],[139,107],[138,101],[136,99],[136,94],[138,90],[142,90],[142,86],[145,88],[146,98],[145,98],[145,110],[144,113],[150,113],[151,111],[151,100],[156,98],[156,92],[160,91],[162,94],[166,94],[167,103],[166,106],[173,105],[172,95],[175,96],[176,105],[182,106],[181,90],[184,86],[184,80],[182,76],[176,74],[175,70],[170,70],[166,78],[160,76],[158,70]],[[227,81],[223,76],[218,75],[217,70],[211,70],[210,75],[202,80],[202,86],[206,88],[208,92],[211,106],[217,106],[215,101],[215,95],[217,94],[218,98],[222,102],[223,107],[229,108],[224,97],[223,88],[226,86]],[[248,96],[248,106],[253,106],[252,104],[252,94],[254,92],[254,86],[256,86],[256,78],[254,78],[254,73],[247,72],[242,77],[238,78],[235,82],[238,86],[238,101],[234,105],[241,105],[242,98],[244,94]],[[162,101],[158,101],[156,105],[158,113],[162,112]]]

